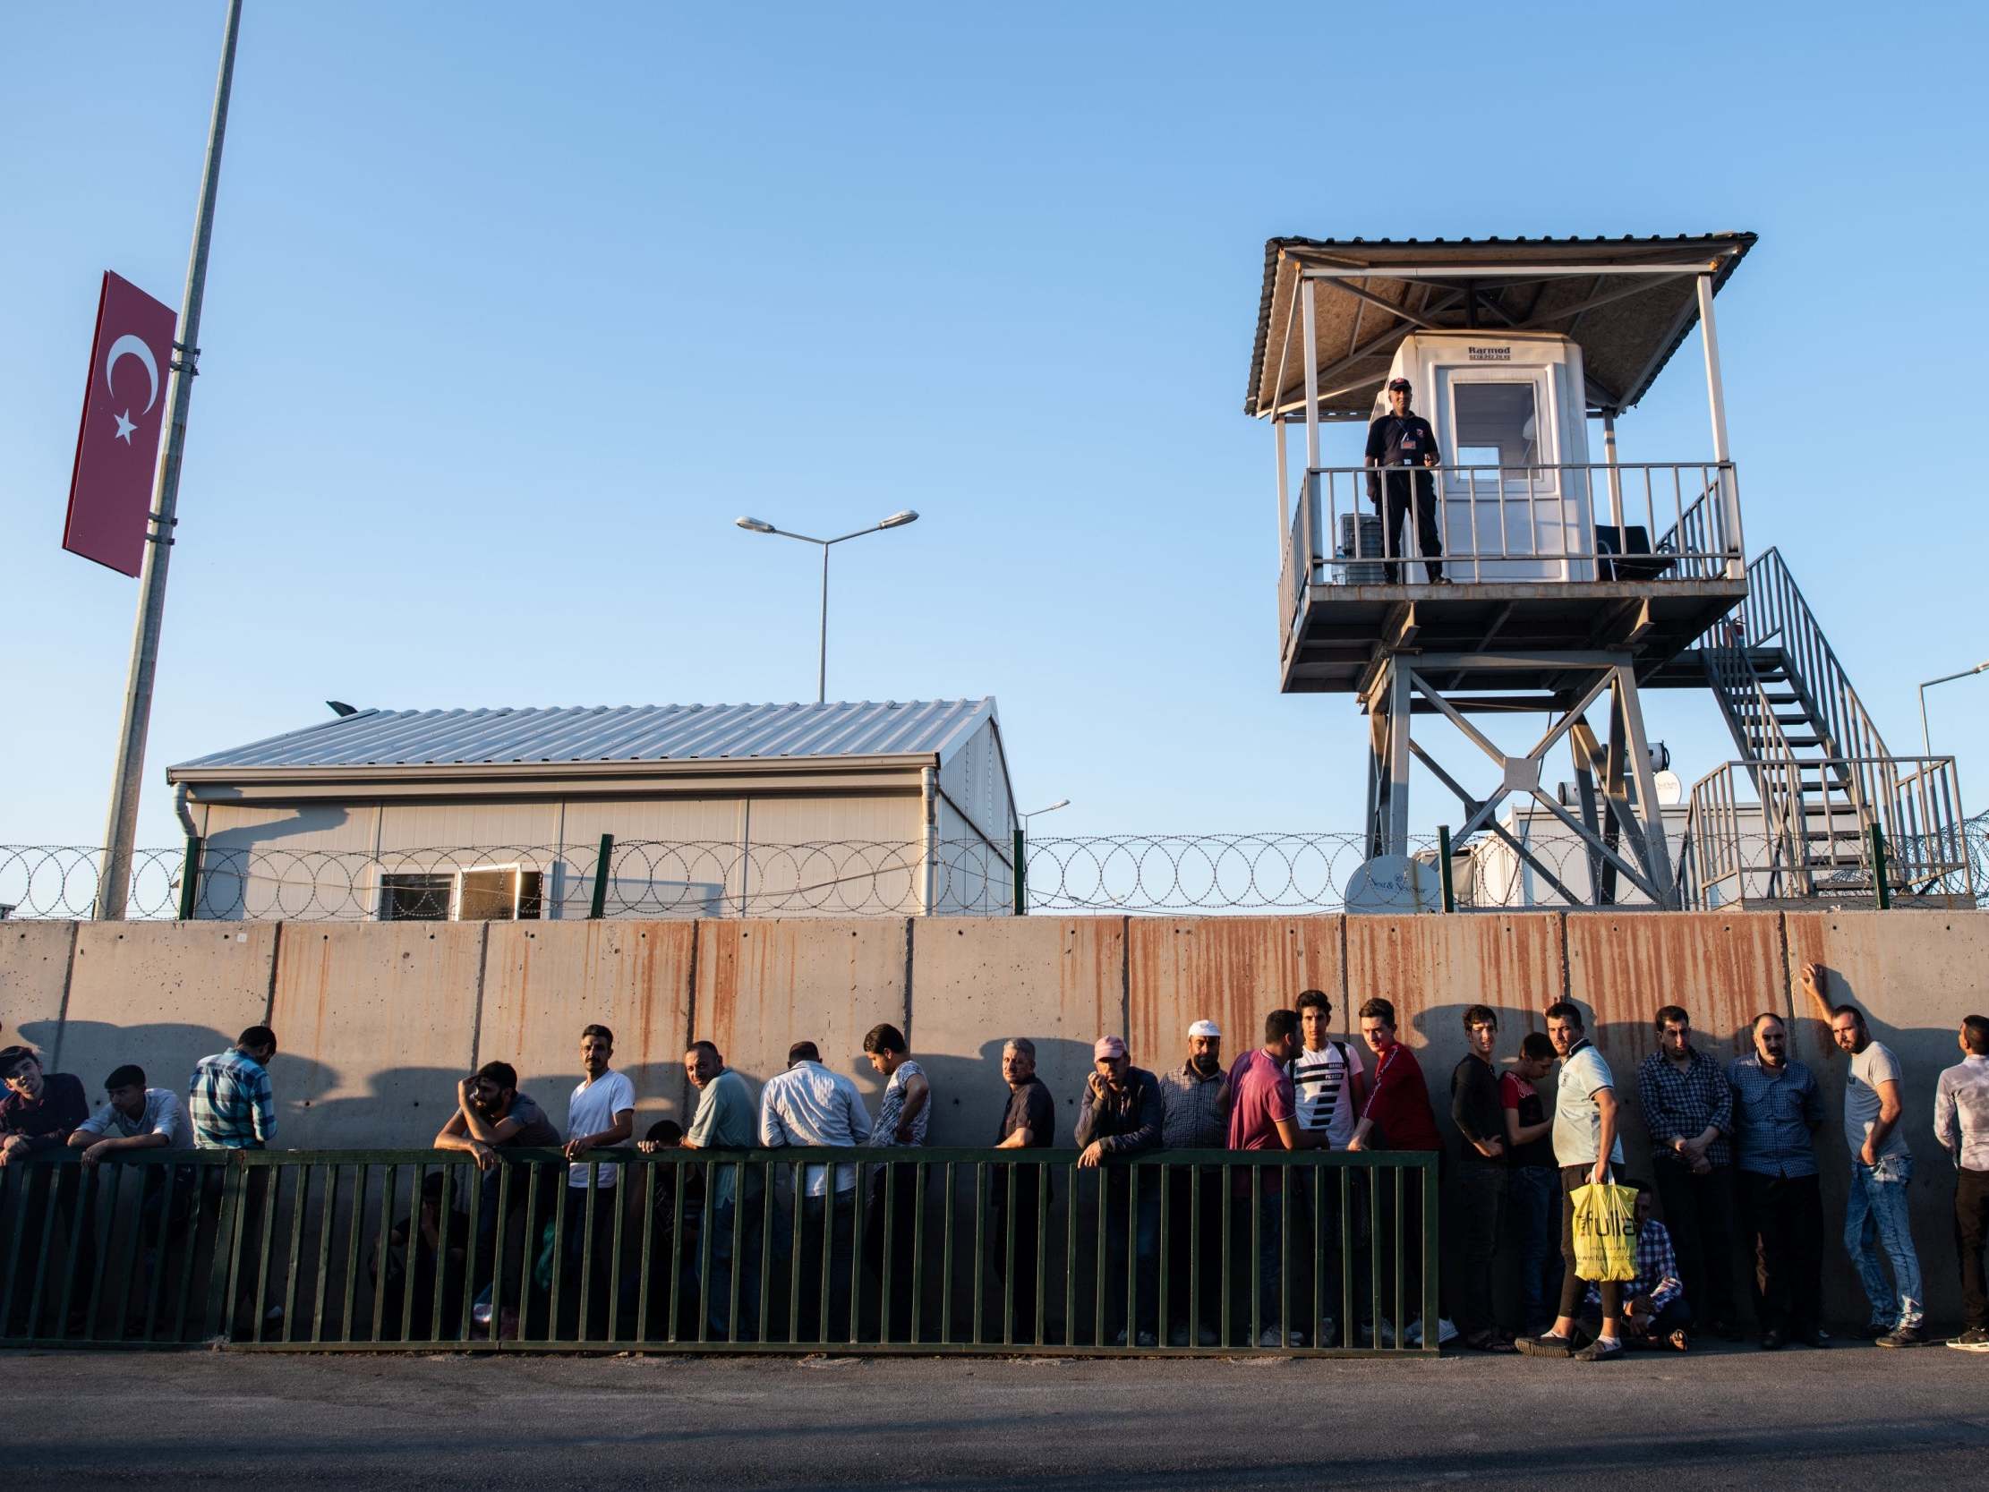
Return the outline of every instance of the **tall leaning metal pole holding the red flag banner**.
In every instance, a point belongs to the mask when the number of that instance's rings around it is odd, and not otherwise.
[[[173,376],[167,386],[165,446],[145,561],[137,583],[137,627],[131,635],[131,674],[125,680],[123,730],[117,770],[111,774],[111,816],[103,830],[103,875],[97,885],[97,919],[123,921],[131,889],[131,841],[137,834],[139,776],[145,770],[145,730],[151,724],[151,686],[159,672],[159,627],[165,619],[165,571],[173,555],[179,509],[179,458],[187,448],[187,406],[193,402],[195,362],[201,356],[201,294],[207,290],[207,245],[215,233],[215,193],[221,187],[221,139],[229,125],[229,90],[235,84],[235,38],[241,34],[243,0],[229,0],[221,34],[221,76],[215,80],[215,113],[207,125],[207,159],[201,165],[201,209],[193,223],[187,259],[187,292],[179,302],[179,340],[173,342]]]

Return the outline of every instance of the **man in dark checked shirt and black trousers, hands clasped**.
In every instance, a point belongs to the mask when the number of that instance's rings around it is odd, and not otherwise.
[[[1657,1050],[1637,1068],[1637,1104],[1651,1134],[1657,1198],[1679,1253],[1679,1279],[1707,1331],[1740,1341],[1734,1325],[1734,1102],[1726,1070],[1693,1046],[1693,1017],[1659,1009]]]

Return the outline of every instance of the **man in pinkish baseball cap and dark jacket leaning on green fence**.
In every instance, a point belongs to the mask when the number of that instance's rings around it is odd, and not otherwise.
[[[1104,1166],[1106,1188],[1106,1267],[1098,1289],[1106,1297],[1106,1329],[1118,1327],[1114,1345],[1126,1345],[1126,1235],[1138,1235],[1142,1347],[1154,1347],[1160,1319],[1154,1261],[1160,1255],[1160,1170],[1140,1174],[1140,1217],[1132,1217],[1132,1166],[1122,1164],[1144,1150],[1160,1148],[1160,1082],[1132,1064],[1124,1036],[1100,1036],[1092,1046],[1092,1076],[1078,1106],[1078,1166]]]

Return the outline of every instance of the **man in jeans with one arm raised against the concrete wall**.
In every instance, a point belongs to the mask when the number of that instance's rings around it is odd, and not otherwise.
[[[1905,1102],[1899,1058],[1884,1042],[1872,1040],[1864,1011],[1832,1005],[1830,971],[1820,963],[1802,965],[1802,989],[1830,1021],[1830,1040],[1852,1058],[1844,1080],[1844,1142],[1852,1152],[1852,1190],[1844,1206],[1844,1251],[1858,1267],[1872,1321],[1864,1335],[1880,1347],[1919,1347],[1925,1299],[1919,1293],[1919,1255],[1907,1227],[1905,1186],[1913,1180],[1913,1154],[1905,1148]],[[1892,1261],[1892,1283],[1880,1267],[1884,1245]]]

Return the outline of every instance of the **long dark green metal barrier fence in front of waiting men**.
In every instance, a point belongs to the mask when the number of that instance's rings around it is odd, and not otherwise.
[[[1420,1152],[44,1154],[0,1345],[1426,1355],[1436,1194]]]

